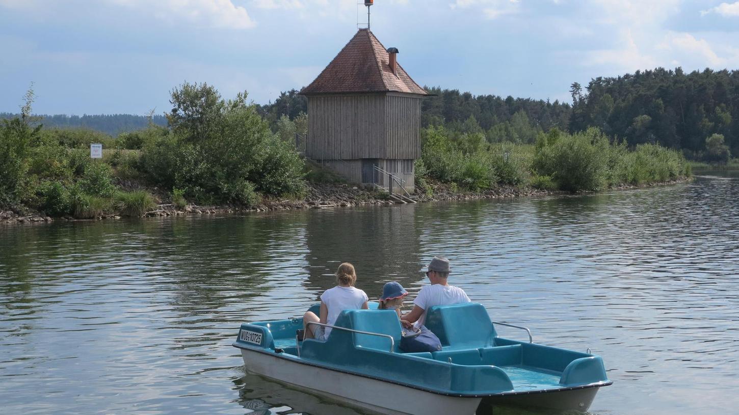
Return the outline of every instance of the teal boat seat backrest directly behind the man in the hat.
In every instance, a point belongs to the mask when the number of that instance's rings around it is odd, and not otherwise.
[[[488,311],[480,303],[431,307],[425,325],[439,337],[444,349],[494,346],[497,336]]]

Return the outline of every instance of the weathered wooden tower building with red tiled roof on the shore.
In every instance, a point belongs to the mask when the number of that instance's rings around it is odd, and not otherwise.
[[[420,158],[420,101],[398,49],[359,29],[301,94],[308,98],[307,158],[349,181],[414,192]]]

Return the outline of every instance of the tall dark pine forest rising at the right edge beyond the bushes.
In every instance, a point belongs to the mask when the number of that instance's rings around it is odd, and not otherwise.
[[[661,144],[708,161],[739,153],[739,71],[658,68],[570,91],[571,132],[598,127],[630,145]]]

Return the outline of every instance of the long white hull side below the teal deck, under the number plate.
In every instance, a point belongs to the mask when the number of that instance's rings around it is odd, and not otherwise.
[[[248,349],[241,349],[241,355],[250,372],[380,414],[473,415],[480,405],[480,398],[448,397]]]

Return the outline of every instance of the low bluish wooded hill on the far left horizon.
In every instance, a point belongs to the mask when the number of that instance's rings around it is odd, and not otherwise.
[[[0,112],[0,119],[8,119],[19,116]],[[109,114],[109,115],[38,115],[44,128],[89,128],[102,131],[111,136],[118,136],[126,131],[140,130],[149,125],[149,117],[132,114]],[[163,115],[155,115],[151,119],[156,125],[167,125],[167,119]]]

